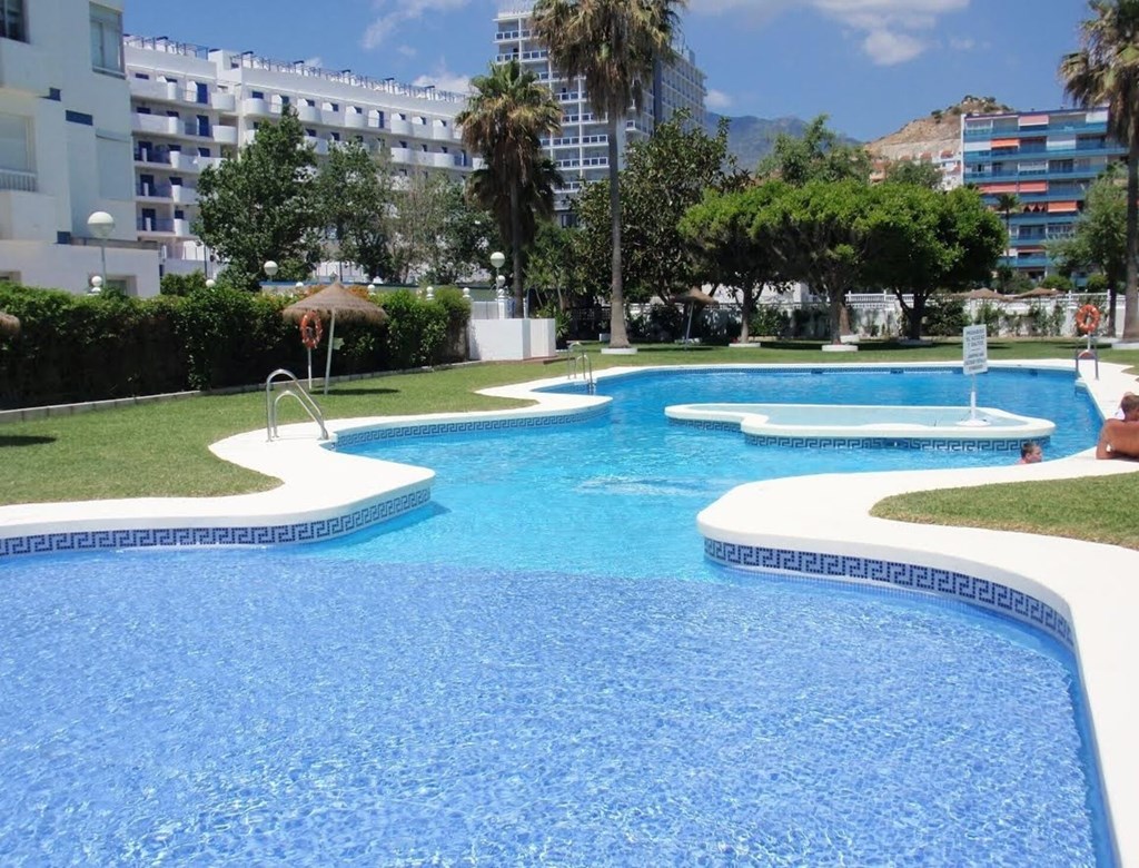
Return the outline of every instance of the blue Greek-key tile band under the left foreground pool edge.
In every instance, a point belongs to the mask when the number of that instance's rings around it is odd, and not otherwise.
[[[317,542],[361,531],[395,518],[431,500],[423,488],[367,507],[314,522],[245,527],[144,527],[109,531],[63,531],[0,539],[0,558],[56,551],[153,548],[157,546],[273,546]]]

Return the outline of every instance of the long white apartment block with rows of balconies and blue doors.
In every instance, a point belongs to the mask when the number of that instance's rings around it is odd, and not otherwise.
[[[140,239],[161,246],[167,270],[213,272],[192,234],[198,174],[253,141],[286,106],[296,108],[318,159],[336,142],[358,140],[386,153],[396,175],[445,172],[458,180],[475,163],[454,125],[465,95],[166,38],[126,36],[123,44],[134,137],[131,220]]]

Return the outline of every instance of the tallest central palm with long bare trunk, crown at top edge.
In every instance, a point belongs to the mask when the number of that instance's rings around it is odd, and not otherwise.
[[[605,115],[609,157],[609,215],[613,237],[609,346],[629,346],[621,281],[621,191],[617,131],[630,106],[642,105],[644,82],[656,63],[672,59],[675,9],[685,0],[538,0],[534,35],[550,64],[567,79],[585,83],[590,107]]]

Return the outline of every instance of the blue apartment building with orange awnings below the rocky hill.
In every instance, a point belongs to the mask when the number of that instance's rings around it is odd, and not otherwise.
[[[1000,210],[1015,197],[1003,263],[1039,280],[1054,270],[1048,241],[1067,238],[1088,188],[1126,150],[1107,132],[1106,108],[962,115],[962,181]],[[1006,204],[1009,200],[1006,200]]]

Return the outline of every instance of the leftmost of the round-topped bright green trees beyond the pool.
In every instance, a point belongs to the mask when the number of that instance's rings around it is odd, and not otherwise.
[[[739,339],[744,343],[749,336],[757,292],[764,284],[785,281],[785,260],[778,253],[780,229],[760,215],[788,189],[781,181],[769,181],[744,190],[708,190],[704,200],[690,207],[680,221],[681,237],[703,281],[741,290]],[[768,231],[753,231],[757,221]]]

